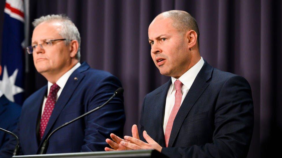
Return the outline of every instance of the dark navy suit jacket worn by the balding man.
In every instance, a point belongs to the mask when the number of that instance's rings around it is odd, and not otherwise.
[[[144,98],[140,139],[146,130],[169,157],[246,157],[254,125],[249,83],[206,61],[175,117],[168,147],[163,120],[171,79]]]

